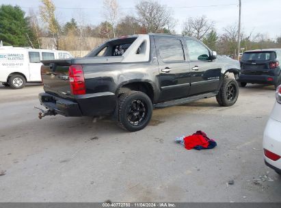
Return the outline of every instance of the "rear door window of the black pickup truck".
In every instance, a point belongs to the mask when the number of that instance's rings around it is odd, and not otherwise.
[[[183,44],[174,38],[156,39],[159,56],[163,62],[180,62],[185,60]]]

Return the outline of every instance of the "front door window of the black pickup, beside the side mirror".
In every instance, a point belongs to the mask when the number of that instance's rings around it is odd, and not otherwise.
[[[209,60],[209,50],[196,40],[186,39],[190,61]]]

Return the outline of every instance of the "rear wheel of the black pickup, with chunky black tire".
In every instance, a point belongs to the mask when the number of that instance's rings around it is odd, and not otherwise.
[[[144,92],[131,91],[118,99],[118,125],[128,131],[144,129],[152,116],[152,102]]]

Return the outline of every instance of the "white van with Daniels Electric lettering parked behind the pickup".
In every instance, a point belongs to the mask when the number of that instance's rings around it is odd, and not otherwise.
[[[27,82],[41,82],[41,60],[66,59],[67,51],[0,46],[0,82],[20,89]]]

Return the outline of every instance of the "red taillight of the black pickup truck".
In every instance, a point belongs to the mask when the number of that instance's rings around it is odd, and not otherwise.
[[[69,83],[72,94],[86,94],[83,67],[79,64],[69,67]]]

